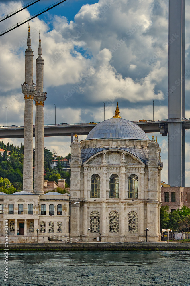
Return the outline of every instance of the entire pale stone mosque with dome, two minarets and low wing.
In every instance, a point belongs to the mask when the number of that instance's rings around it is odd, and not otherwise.
[[[97,124],[85,140],[71,143],[70,194],[43,191],[43,59],[39,39],[36,84],[30,28],[25,51],[23,191],[0,194],[0,239],[47,242],[60,235],[79,242],[157,242],[160,235],[161,148],[136,124],[115,116]],[[33,100],[35,121],[35,184],[33,190]],[[4,221],[7,220],[7,227]],[[88,231],[89,229],[89,231]]]

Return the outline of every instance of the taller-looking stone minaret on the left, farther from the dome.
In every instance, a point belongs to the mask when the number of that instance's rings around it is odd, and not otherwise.
[[[33,192],[33,98],[36,93],[36,84],[33,83],[33,51],[31,49],[30,26],[28,26],[27,46],[25,51],[25,82],[21,84],[25,100],[23,190]]]

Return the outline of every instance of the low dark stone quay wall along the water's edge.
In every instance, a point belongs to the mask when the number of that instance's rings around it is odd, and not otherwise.
[[[187,251],[190,243],[167,242],[94,242],[94,243],[10,243],[11,251],[31,250],[166,250]],[[4,251],[3,243],[0,243],[0,251]]]

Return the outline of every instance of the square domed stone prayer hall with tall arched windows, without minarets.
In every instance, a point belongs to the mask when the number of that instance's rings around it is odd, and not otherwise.
[[[71,237],[159,241],[161,148],[136,124],[115,116],[71,143]]]

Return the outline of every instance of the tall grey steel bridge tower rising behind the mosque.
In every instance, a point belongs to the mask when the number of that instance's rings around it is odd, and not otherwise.
[[[169,0],[168,179],[185,187],[185,0]]]

